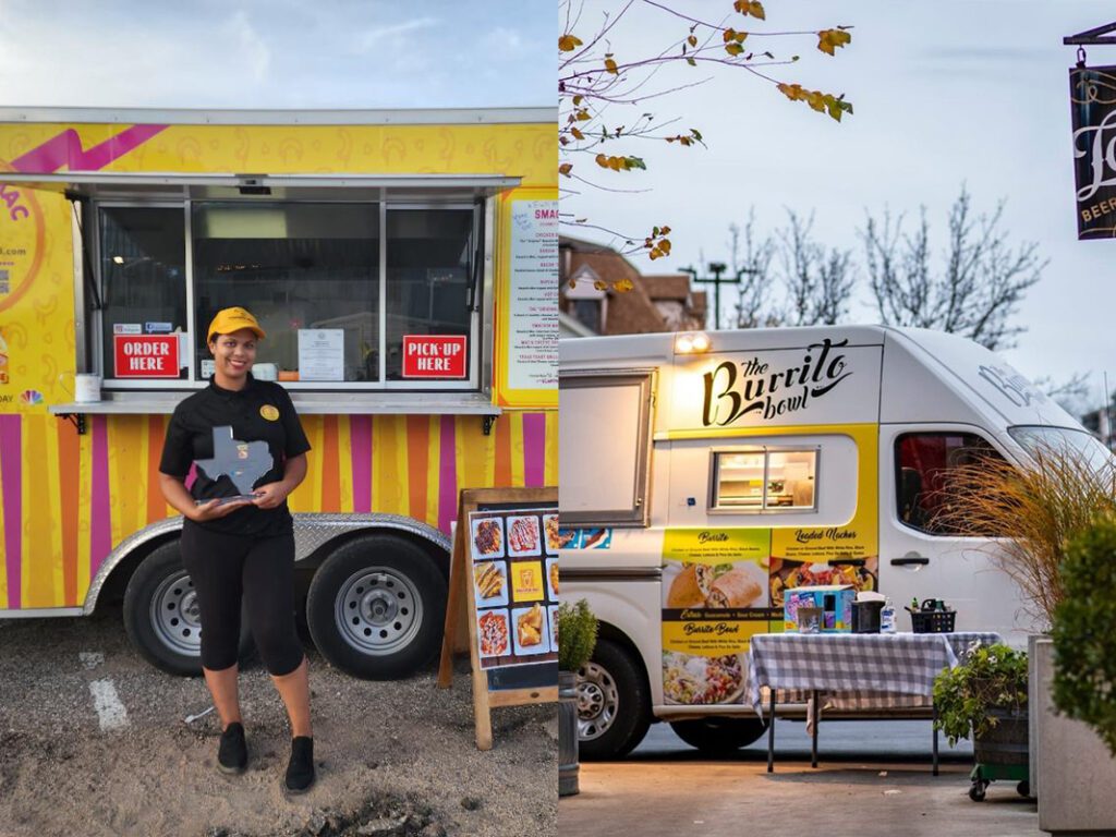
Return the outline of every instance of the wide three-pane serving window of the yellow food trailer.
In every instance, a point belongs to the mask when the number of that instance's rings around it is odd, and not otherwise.
[[[208,379],[209,321],[242,306],[267,333],[257,377],[475,389],[481,214],[468,203],[96,204],[106,385]]]

